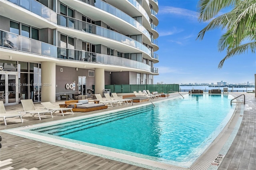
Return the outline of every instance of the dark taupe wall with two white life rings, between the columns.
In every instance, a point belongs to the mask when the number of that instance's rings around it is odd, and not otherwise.
[[[60,68],[63,68],[63,72],[60,72]],[[88,69],[78,68],[78,71],[76,71],[76,68],[73,67],[56,65],[56,96],[66,93],[72,97],[73,93],[78,93],[78,76],[86,76],[86,89],[92,89],[95,79],[88,76]],[[76,81],[75,91],[65,88],[66,83],[70,84],[74,81]]]

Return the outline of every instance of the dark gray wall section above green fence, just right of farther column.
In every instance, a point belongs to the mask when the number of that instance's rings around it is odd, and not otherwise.
[[[129,71],[111,72],[111,84],[129,84]]]

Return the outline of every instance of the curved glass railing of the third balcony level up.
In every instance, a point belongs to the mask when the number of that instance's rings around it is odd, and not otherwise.
[[[84,2],[84,0],[80,0],[80,1]],[[96,2],[94,3],[94,6],[96,8],[99,8],[105,12],[108,12],[108,13],[128,22],[129,24],[131,24],[132,26],[136,27],[138,30],[143,32],[144,35],[146,37],[148,37],[148,39],[150,39],[150,34],[149,34],[148,30],[146,30],[146,28],[144,28],[144,26],[142,26],[142,24],[139,23],[137,20],[134,20],[134,18],[130,17],[126,13],[122,12],[121,10],[118,10],[114,6],[111,6],[110,4],[107,4],[106,2],[103,2],[102,0],[96,0]]]

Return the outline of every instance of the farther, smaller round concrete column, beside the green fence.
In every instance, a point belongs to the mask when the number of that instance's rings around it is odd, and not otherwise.
[[[95,94],[100,93],[103,96],[103,89],[105,89],[105,74],[103,68],[95,68]]]

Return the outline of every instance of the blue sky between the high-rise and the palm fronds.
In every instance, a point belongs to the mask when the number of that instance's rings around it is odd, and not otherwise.
[[[196,40],[208,23],[199,23],[196,13],[198,0],[158,0],[159,75],[154,83],[254,83],[256,54],[236,55],[218,63],[226,51],[218,51],[218,40],[225,32],[221,29],[206,32],[203,40]]]

